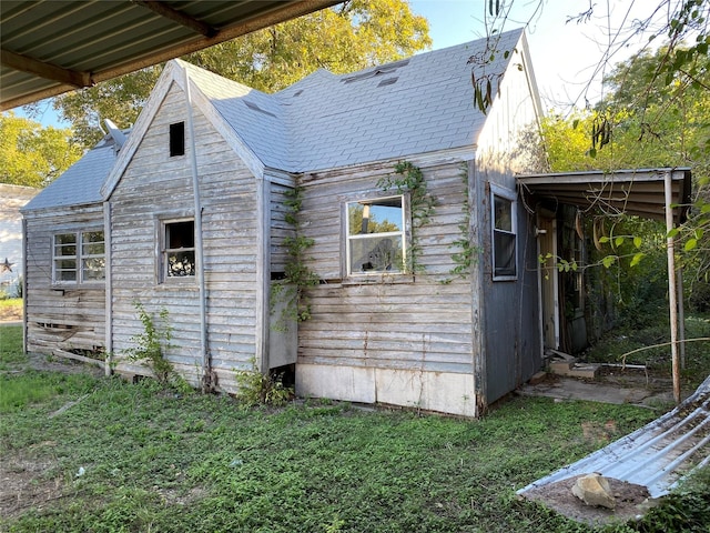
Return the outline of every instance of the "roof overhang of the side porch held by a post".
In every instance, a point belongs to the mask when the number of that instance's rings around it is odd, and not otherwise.
[[[670,203],[674,208],[676,220],[682,222],[691,193],[688,168],[560,172],[520,175],[517,180],[524,194],[532,202],[548,200],[577,205],[584,211],[666,220],[667,175],[671,181]]]

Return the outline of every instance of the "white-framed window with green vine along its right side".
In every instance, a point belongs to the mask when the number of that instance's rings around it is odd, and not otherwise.
[[[404,272],[404,197],[348,202],[347,274]]]

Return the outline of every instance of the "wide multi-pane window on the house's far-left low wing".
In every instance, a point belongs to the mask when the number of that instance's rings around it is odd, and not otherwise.
[[[54,235],[53,283],[91,283],[105,279],[103,231]]]

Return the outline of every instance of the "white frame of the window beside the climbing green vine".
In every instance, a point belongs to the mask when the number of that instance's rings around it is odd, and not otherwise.
[[[354,203],[359,203],[363,205],[368,205],[368,204],[376,204],[377,202],[384,202],[387,200],[392,200],[392,199],[399,199],[400,201],[400,205],[402,205],[402,220],[399,221],[399,227],[402,228],[398,231],[387,231],[387,232],[378,232],[378,233],[365,233],[365,234],[354,234],[351,235],[351,228],[349,228],[349,205],[354,204]],[[344,232],[345,232],[345,265],[344,265],[344,273],[345,276],[348,279],[358,279],[358,280],[366,280],[366,279],[373,279],[373,278],[381,278],[384,274],[389,274],[389,275],[402,275],[402,274],[406,274],[406,270],[407,270],[407,252],[408,252],[408,244],[409,244],[409,223],[408,223],[408,209],[407,209],[407,195],[406,194],[392,194],[392,195],[386,195],[386,197],[368,197],[368,198],[362,198],[359,200],[348,200],[346,202],[344,202],[343,205],[343,217],[345,220],[344,223]],[[399,269],[397,270],[364,270],[364,271],[353,271],[352,265],[353,265],[353,257],[352,257],[352,243],[354,241],[357,240],[372,240],[372,239],[377,239],[377,238],[398,238],[400,239],[402,242],[402,247],[400,247],[400,254],[402,254],[402,265],[399,266]]]

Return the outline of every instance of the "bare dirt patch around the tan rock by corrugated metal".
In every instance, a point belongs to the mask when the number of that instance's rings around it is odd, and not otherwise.
[[[604,525],[612,522],[628,522],[643,515],[655,501],[648,489],[626,481],[607,477],[616,500],[616,509],[592,507],[572,494],[572,486],[580,476],[530,489],[523,494],[528,500],[539,502],[558,513],[588,525]]]

